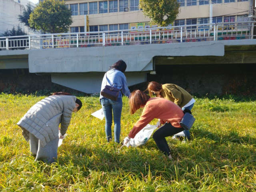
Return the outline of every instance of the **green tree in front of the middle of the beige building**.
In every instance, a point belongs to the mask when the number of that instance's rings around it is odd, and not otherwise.
[[[144,15],[150,18],[150,22],[157,24],[158,27],[164,27],[174,22],[180,4],[177,0],[140,0],[140,8]],[[160,34],[162,36],[162,32]]]

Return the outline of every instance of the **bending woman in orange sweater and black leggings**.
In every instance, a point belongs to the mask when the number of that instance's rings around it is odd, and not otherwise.
[[[150,96],[140,90],[135,90],[131,93],[129,104],[131,114],[134,114],[136,110],[140,108],[144,109],[140,119],[124,139],[124,144],[129,142],[130,138],[134,138],[134,136],[154,118],[157,118],[160,119],[160,122],[157,123],[158,127],[161,124],[164,124],[164,126],[154,132],[153,139],[158,148],[169,158],[172,158],[170,148],[165,138],[184,130],[179,124],[184,116],[182,109],[164,98],[150,98]]]

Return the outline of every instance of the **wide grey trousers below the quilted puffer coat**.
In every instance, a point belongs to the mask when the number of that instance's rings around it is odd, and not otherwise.
[[[45,163],[52,163],[57,161],[59,137],[48,142],[44,147],[40,140],[33,134],[29,133],[30,152],[36,157],[35,161],[42,161]]]

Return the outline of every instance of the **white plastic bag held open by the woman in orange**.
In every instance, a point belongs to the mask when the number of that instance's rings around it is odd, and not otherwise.
[[[131,138],[130,141],[124,144],[126,147],[138,147],[144,145],[149,138],[151,137],[154,130],[157,128],[155,125],[147,124],[142,130],[140,130],[134,138]]]

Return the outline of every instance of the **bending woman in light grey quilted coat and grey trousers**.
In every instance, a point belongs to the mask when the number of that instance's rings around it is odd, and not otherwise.
[[[81,107],[82,102],[76,96],[56,92],[34,104],[20,119],[17,125],[22,128],[26,141],[30,142],[30,152],[35,160],[47,163],[57,160],[59,138],[65,137],[72,112]]]

